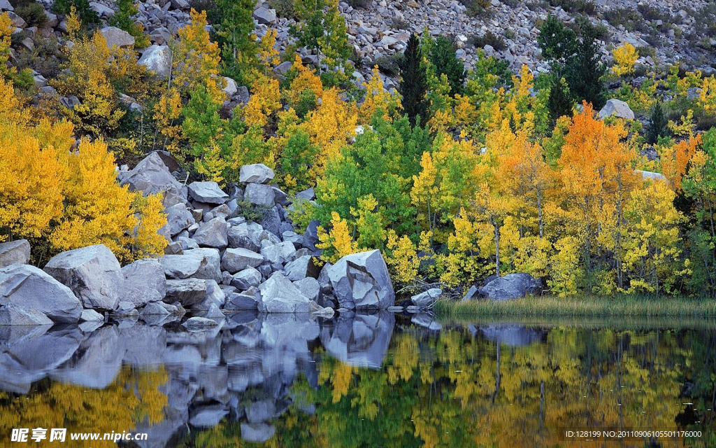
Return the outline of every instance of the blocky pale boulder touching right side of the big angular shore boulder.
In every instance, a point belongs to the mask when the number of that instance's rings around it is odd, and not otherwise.
[[[158,302],[167,293],[167,279],[158,259],[138,259],[122,267],[122,275],[125,276],[122,300],[132,302],[135,308]]]

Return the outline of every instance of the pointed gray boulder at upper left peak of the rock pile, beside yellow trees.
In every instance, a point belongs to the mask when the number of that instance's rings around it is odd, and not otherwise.
[[[172,176],[158,151],[143,158],[132,171],[120,173],[119,180],[144,196],[163,194],[165,207],[186,203],[186,187]]]

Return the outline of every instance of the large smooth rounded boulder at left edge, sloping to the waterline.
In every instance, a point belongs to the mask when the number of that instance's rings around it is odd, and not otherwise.
[[[29,264],[0,269],[0,305],[10,303],[39,310],[58,323],[75,323],[82,314],[82,302],[69,287]]]

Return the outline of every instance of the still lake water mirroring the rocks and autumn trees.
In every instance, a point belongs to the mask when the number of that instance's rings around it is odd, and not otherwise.
[[[712,321],[5,327],[0,447],[716,447],[715,383]],[[67,439],[10,442],[37,428]],[[147,440],[69,440],[112,432]]]

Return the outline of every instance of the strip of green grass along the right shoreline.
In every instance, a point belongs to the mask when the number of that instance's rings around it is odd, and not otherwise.
[[[692,297],[579,296],[524,297],[505,302],[440,300],[435,314],[442,319],[466,317],[715,317],[716,300]]]

